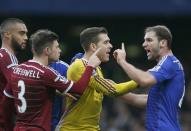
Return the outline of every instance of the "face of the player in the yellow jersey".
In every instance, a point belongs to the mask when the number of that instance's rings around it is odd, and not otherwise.
[[[101,50],[98,53],[98,57],[102,62],[107,62],[109,61],[110,52],[113,46],[110,43],[110,39],[107,34],[100,34],[98,38],[99,42],[97,43],[97,48],[101,47]]]

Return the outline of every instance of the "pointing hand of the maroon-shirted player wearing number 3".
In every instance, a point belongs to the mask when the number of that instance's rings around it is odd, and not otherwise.
[[[101,60],[98,58],[97,54],[101,50],[101,47],[98,48],[89,58],[88,60],[88,65],[96,68],[101,64]]]

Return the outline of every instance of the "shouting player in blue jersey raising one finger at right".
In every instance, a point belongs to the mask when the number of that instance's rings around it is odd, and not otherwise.
[[[163,25],[147,27],[143,48],[148,60],[157,65],[147,72],[125,60],[124,44],[114,51],[114,57],[128,76],[142,87],[151,87],[146,105],[146,128],[148,131],[180,131],[178,113],[185,93],[184,71],[180,61],[171,50],[172,34]]]

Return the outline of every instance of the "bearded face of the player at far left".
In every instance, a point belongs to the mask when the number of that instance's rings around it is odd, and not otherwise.
[[[27,28],[25,24],[17,23],[10,31],[11,34],[11,47],[14,51],[19,52],[26,48],[27,44]]]

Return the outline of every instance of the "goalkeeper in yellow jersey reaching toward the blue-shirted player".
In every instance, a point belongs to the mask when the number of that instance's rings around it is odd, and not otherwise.
[[[80,34],[80,43],[85,51],[83,58],[76,59],[68,68],[69,80],[77,81],[83,74],[89,57],[101,47],[97,56],[101,62],[109,61],[112,44],[104,27],[92,27]],[[104,79],[101,68],[93,71],[89,85],[77,100],[67,98],[66,110],[56,131],[99,131],[100,113],[104,95],[123,95],[137,88],[134,81],[114,83]]]

